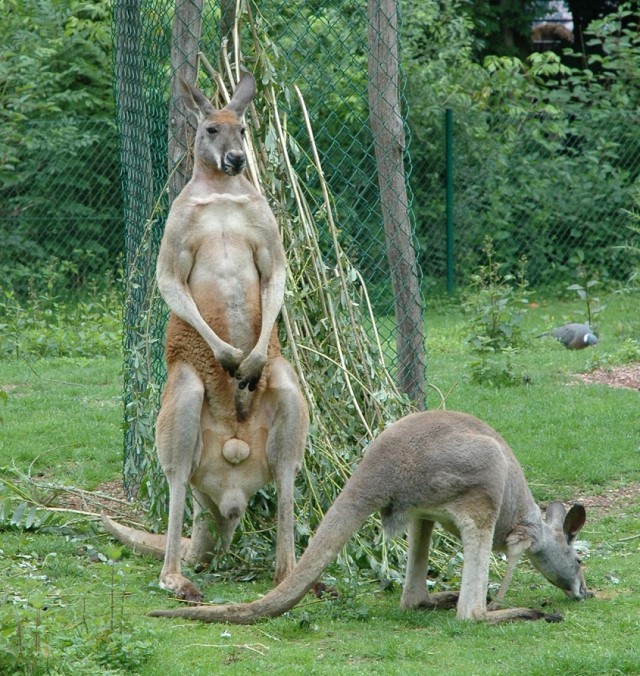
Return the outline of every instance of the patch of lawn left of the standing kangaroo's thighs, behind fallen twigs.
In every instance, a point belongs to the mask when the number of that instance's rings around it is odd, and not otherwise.
[[[32,358],[0,368],[0,466],[95,489],[122,469],[122,360]]]

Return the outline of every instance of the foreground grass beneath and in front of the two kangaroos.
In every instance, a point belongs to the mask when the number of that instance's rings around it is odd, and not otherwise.
[[[358,594],[345,586],[337,601],[307,602],[253,627],[199,625],[145,616],[170,604],[157,589],[157,562],[134,556],[111,565],[91,562],[79,542],[59,536],[4,533],[0,560],[4,583],[4,625],[21,622],[23,647],[32,663],[56,654],[60,673],[232,673],[265,670],[279,674],[610,674],[637,673],[633,640],[638,615],[638,506],[625,510],[602,533],[587,537],[589,581],[598,598],[576,604],[522,566],[510,602],[563,613],[559,624],[460,623],[453,612],[403,612],[399,590],[380,592],[363,581]],[[113,554],[105,538],[91,538]],[[18,565],[21,566],[18,569]],[[18,573],[18,570],[20,571]],[[15,571],[12,573],[12,571]],[[198,576],[196,576],[198,579]],[[268,582],[215,584],[210,599],[247,599],[267,591]],[[34,607],[35,606],[35,607]],[[39,609],[39,610],[38,610]],[[37,632],[36,632],[37,627]],[[40,651],[33,655],[36,633]],[[130,653],[107,650],[128,640]],[[47,647],[48,646],[48,647]],[[65,647],[67,657],[60,657]],[[70,648],[73,650],[70,651]],[[71,656],[71,657],[70,657]],[[37,658],[37,660],[36,660]],[[65,664],[70,671],[63,671]],[[32,673],[50,673],[47,671]],[[117,673],[117,672],[116,672]]]

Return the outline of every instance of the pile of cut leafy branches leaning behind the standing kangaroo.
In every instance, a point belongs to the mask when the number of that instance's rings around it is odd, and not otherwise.
[[[331,194],[302,94],[295,85],[277,80],[268,37],[259,33],[259,21],[250,23],[258,55],[254,75],[262,89],[247,112],[249,173],[276,213],[287,252],[281,338],[311,414],[296,496],[297,536],[304,546],[366,445],[411,406],[398,391],[387,363],[394,355],[384,353],[364,280],[340,246]],[[240,75],[239,53],[234,52],[234,64],[223,52],[222,72],[199,55],[217,90],[214,103],[218,106],[230,99],[225,82],[235,82]],[[308,148],[300,147],[288,132],[281,101],[299,111]],[[272,517],[263,516],[275,513],[274,491],[261,491],[252,503],[239,536],[240,551],[246,555],[247,549],[260,550],[266,544],[262,553],[269,558],[271,537],[261,542],[259,534],[274,528]],[[404,545],[386,543],[376,519],[346,549],[342,564],[373,569],[384,577],[393,575],[404,558]]]

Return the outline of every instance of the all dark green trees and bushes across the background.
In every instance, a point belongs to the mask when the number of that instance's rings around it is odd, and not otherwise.
[[[625,210],[640,171],[638,3],[570,3],[578,23],[596,18],[576,37],[573,56],[531,52],[525,29],[544,4],[400,4],[413,211],[427,281],[445,273],[447,107],[460,283],[487,233],[507,265],[527,256],[535,285],[566,286],[580,267],[603,280],[628,276],[616,247],[628,238]],[[55,258],[67,268],[59,281],[79,287],[116,270],[124,245],[111,2],[2,0],[2,8],[0,272],[23,294]],[[365,3],[270,10],[287,78],[310,101],[347,253],[375,284],[386,273],[366,152]],[[597,18],[608,11],[615,18]],[[521,36],[514,48],[505,44],[512,34]],[[319,63],[327,64],[321,75]],[[164,92],[154,97],[164,105]],[[162,145],[165,134],[158,139]]]

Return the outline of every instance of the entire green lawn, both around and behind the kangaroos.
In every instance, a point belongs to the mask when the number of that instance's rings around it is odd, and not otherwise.
[[[428,314],[430,381],[448,393],[449,409],[478,415],[505,436],[543,502],[640,480],[639,393],[575,377],[634,356],[637,296],[606,301],[596,348],[569,352],[553,339],[531,338],[515,357],[529,384],[501,388],[469,381],[467,318],[457,306],[443,303]],[[581,311],[573,300],[540,301],[527,313],[526,331],[581,319]],[[0,505],[12,494],[1,483],[15,483],[12,468],[90,490],[120,478],[118,346],[96,358],[27,355],[0,364]],[[435,392],[429,402],[438,402]],[[559,624],[491,627],[457,622],[450,611],[403,612],[397,586],[380,591],[364,574],[346,580],[334,567],[339,599],[309,598],[284,617],[224,627],[148,618],[147,611],[175,604],[158,588],[159,563],[125,551],[97,524],[56,515],[25,529],[24,519],[12,525],[10,511],[0,510],[0,672],[637,674],[639,518],[637,497],[588,512],[580,539],[594,599],[570,602],[519,567],[507,601],[558,611]],[[246,568],[264,570],[259,561]],[[234,582],[225,571],[192,576],[210,601],[250,600],[271,587],[262,573],[252,582]]]

